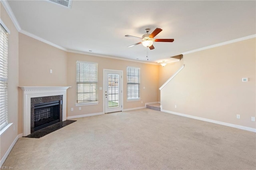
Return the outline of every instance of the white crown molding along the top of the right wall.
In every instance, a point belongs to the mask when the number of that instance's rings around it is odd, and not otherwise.
[[[194,49],[194,50],[191,50],[191,51],[184,52],[182,54],[185,55],[185,54],[189,54],[189,53],[194,53],[194,52],[197,52],[197,51],[202,51],[202,50],[205,50],[205,49],[219,47],[219,46],[227,45],[227,44],[230,44],[230,43],[240,42],[240,41],[248,40],[248,39],[251,39],[251,38],[256,38],[256,34],[251,35],[251,36],[242,37],[242,38],[237,38],[235,40],[230,40],[230,41],[227,41],[227,42],[217,43],[217,44],[214,44],[214,45]]]

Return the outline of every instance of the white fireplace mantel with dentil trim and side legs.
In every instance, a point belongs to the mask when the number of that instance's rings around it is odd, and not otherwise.
[[[66,94],[69,87],[20,87],[23,91],[23,136],[30,134],[31,98],[62,95],[62,121],[66,121]]]

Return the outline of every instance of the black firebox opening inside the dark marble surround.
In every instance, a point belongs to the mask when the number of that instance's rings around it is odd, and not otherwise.
[[[34,131],[60,122],[60,101],[34,105]]]

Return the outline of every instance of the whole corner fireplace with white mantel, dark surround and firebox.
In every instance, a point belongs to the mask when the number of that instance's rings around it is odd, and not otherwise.
[[[23,136],[51,123],[66,121],[66,91],[69,87],[20,88],[23,91]],[[52,110],[59,110],[58,116],[48,113]],[[38,116],[40,112],[42,115]]]

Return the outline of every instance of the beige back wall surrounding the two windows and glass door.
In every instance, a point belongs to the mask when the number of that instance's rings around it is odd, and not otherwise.
[[[96,57],[77,53],[68,53],[68,116],[77,116],[103,112],[103,91],[99,90],[99,104],[76,107],[76,61],[98,63],[98,87],[103,87],[103,69],[122,70],[124,73],[124,109],[144,107],[145,103],[158,101],[158,65],[138,63],[132,61]],[[126,67],[140,67],[140,101],[127,101],[126,95]],[[145,89],[143,89],[145,87]],[[143,103],[142,103],[143,102]],[[71,111],[74,108],[74,111]]]

